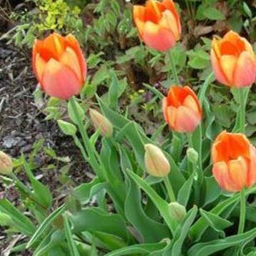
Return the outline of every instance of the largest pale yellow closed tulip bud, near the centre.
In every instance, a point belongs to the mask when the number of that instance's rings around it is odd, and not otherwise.
[[[159,147],[153,144],[145,144],[145,166],[147,172],[154,177],[165,177],[168,175],[171,167]]]

